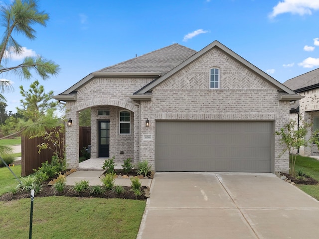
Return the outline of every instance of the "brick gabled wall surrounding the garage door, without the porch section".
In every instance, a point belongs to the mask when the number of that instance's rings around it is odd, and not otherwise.
[[[209,70],[220,69],[220,89],[209,90]],[[278,90],[217,49],[185,67],[153,90],[152,101],[141,103],[141,118],[150,127],[141,134],[141,160],[155,161],[155,125],[159,119],[274,120],[275,130],[289,122],[289,102],[278,101]],[[275,136],[275,171],[288,171],[288,154]]]

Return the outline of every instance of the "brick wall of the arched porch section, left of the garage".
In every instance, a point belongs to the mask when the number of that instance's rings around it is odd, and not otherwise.
[[[134,135],[134,131],[139,131],[139,106],[131,101],[128,97],[138,91],[153,78],[94,78],[77,91],[77,101],[67,102],[66,118],[72,119],[72,127],[66,127],[66,159],[69,167],[78,167],[78,112],[86,108],[91,110],[91,152],[92,157],[97,155],[97,120],[104,119],[97,117],[97,109],[110,109],[111,125],[111,145],[110,156],[115,155],[116,161],[121,163],[122,160],[131,157],[135,162],[139,158],[140,146],[139,136]],[[109,107],[111,106],[111,107]],[[131,135],[119,135],[119,111],[131,111]],[[106,118],[105,118],[106,119]],[[122,144],[128,143],[123,147]],[[124,151],[121,155],[120,151]]]

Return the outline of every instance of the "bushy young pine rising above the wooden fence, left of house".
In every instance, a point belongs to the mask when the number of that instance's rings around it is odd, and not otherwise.
[[[30,89],[25,91],[20,86],[20,94],[24,99],[20,100],[22,109],[16,108],[17,113],[23,115],[25,119],[35,121],[41,115],[45,114],[48,109],[55,111],[57,103],[52,102],[53,91],[44,92],[44,87],[38,81],[30,85]]]

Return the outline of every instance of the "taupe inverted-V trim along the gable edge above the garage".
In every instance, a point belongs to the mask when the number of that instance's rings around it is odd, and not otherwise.
[[[147,86],[145,86],[144,88],[142,88],[141,90],[137,91],[134,94],[145,94],[149,91],[152,91],[154,88],[156,88],[159,84],[161,84],[163,81],[168,79],[170,76],[172,76],[175,73],[177,73],[178,71],[182,70],[188,64],[190,64],[191,62],[200,58],[202,55],[204,55],[206,52],[210,51],[214,47],[218,47],[220,50],[222,50],[223,52],[225,52],[226,54],[228,54],[229,56],[231,56],[235,60],[239,61],[241,64],[245,65],[246,67],[248,67],[252,71],[256,72],[262,78],[266,79],[267,81],[269,81],[269,83],[274,85],[279,91],[283,91],[284,93],[295,95],[295,92],[293,92],[291,89],[284,86],[279,81],[275,80],[274,78],[272,78],[271,76],[266,74],[264,71],[260,70],[259,68],[257,68],[256,66],[254,66],[253,64],[251,64],[250,62],[248,62],[247,60],[245,60],[244,58],[242,58],[241,56],[239,56],[238,54],[236,54],[235,52],[233,52],[232,50],[230,50],[229,48],[227,48],[226,46],[224,46],[223,44],[221,44],[219,41],[216,41],[216,40],[213,41],[212,43],[210,43],[208,46],[206,46],[202,50],[198,51],[196,54],[189,57],[187,60],[182,62],[180,65],[176,66],[174,69],[172,69],[167,74],[165,74],[162,77],[160,77],[159,79],[156,79],[155,81],[151,82],[150,84],[148,84]]]

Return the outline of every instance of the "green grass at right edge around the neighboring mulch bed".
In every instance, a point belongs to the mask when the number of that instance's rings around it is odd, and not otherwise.
[[[304,173],[319,181],[319,160],[315,158],[297,155],[295,172],[302,169]],[[319,200],[319,184],[297,185],[305,193]]]

